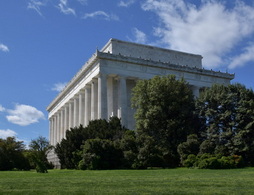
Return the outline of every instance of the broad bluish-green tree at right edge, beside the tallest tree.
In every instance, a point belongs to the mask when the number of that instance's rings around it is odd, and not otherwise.
[[[240,84],[214,85],[196,103],[202,121],[201,153],[240,155],[254,165],[254,92]]]

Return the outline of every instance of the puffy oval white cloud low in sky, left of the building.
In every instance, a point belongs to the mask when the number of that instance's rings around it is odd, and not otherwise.
[[[41,111],[24,104],[16,104],[14,110],[7,110],[7,112],[9,114],[6,116],[7,120],[20,126],[27,126],[39,122],[40,119],[45,119]]]

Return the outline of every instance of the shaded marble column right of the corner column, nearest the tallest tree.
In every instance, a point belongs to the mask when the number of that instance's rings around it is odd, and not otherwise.
[[[127,89],[126,78],[119,76],[118,89],[118,118],[121,118],[122,125],[127,127]]]

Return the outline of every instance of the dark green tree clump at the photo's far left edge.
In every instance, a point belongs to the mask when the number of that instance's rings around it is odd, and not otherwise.
[[[29,162],[24,156],[25,145],[14,137],[0,139],[0,170],[27,170]]]

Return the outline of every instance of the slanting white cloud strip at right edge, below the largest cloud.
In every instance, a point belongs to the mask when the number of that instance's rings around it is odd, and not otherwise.
[[[254,62],[254,45],[244,48],[244,52],[239,56],[234,57],[232,62],[229,64],[229,68],[233,69],[236,67],[244,66],[245,63]]]

